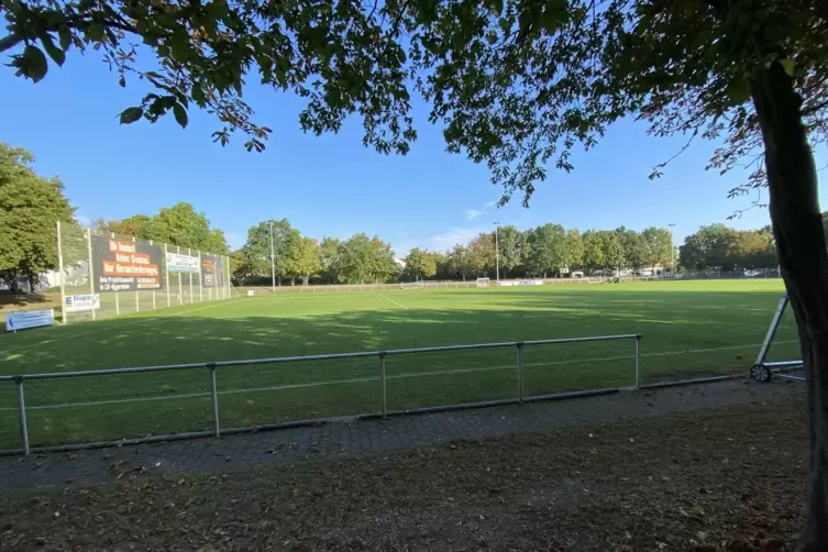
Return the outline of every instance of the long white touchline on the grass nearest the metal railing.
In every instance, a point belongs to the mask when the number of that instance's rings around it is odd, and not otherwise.
[[[777,341],[779,344],[784,343],[795,343],[795,341]],[[751,347],[758,347],[760,345],[731,345],[731,346],[722,346],[722,347],[711,347],[711,349],[689,349],[684,351],[665,351],[660,353],[644,353],[641,355],[641,357],[652,357],[652,356],[670,356],[670,355],[678,355],[678,354],[699,354],[699,353],[713,353],[717,351],[733,351],[738,349],[751,349]],[[618,356],[603,356],[603,357],[593,357],[593,358],[577,358],[573,361],[553,361],[553,362],[536,362],[536,363],[523,363],[523,366],[562,366],[566,364],[579,364],[585,362],[608,362],[608,361],[627,361],[634,358],[634,355],[626,354],[626,355],[618,355]],[[386,379],[409,379],[415,377],[426,377],[426,376],[445,376],[445,375],[455,375],[455,374],[472,374],[477,372],[495,372],[500,369],[516,369],[517,366],[514,364],[510,364],[508,366],[487,366],[482,368],[457,368],[457,369],[446,369],[446,371],[429,371],[429,372],[411,372],[407,374],[394,374],[390,376],[387,376]],[[368,377],[356,377],[356,378],[350,378],[350,379],[331,379],[327,382],[312,382],[309,384],[289,384],[289,385],[277,385],[277,386],[268,386],[268,387],[251,387],[251,388],[243,388],[243,389],[228,389],[223,391],[218,391],[218,395],[241,395],[241,394],[247,394],[247,393],[262,393],[262,391],[280,391],[280,390],[287,390],[287,389],[301,389],[301,388],[308,388],[308,387],[322,387],[328,385],[341,385],[341,384],[362,384],[362,383],[369,383],[369,382],[379,382],[379,376],[368,376]],[[135,398],[129,398],[129,399],[111,399],[111,400],[93,400],[88,402],[65,402],[59,405],[41,405],[41,406],[33,406],[33,407],[26,407],[26,410],[49,410],[55,408],[76,408],[76,407],[93,407],[93,406],[104,406],[104,405],[125,405],[130,402],[150,402],[155,400],[175,400],[175,399],[188,399],[188,398],[197,398],[197,397],[209,397],[210,394],[207,391],[201,393],[184,393],[178,395],[162,395],[162,396],[153,396],[153,397],[135,397]],[[16,410],[16,407],[3,407],[0,408],[0,411],[12,411]]]

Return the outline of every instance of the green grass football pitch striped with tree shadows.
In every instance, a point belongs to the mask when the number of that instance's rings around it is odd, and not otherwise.
[[[272,295],[0,336],[0,375],[642,333],[645,382],[747,372],[780,280]],[[795,328],[772,351],[796,358]],[[527,395],[633,383],[631,341],[527,347]],[[388,408],[517,395],[515,349],[391,356]],[[378,411],[376,357],[220,368],[222,427]],[[343,382],[353,379],[354,382]],[[207,369],[26,383],[32,445],[199,431]],[[0,385],[0,448],[19,446]]]

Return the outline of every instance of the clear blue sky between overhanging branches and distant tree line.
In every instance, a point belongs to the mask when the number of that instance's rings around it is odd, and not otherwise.
[[[645,126],[631,121],[610,128],[593,151],[576,154],[573,173],[552,172],[529,209],[519,200],[497,209],[499,189],[486,166],[445,153],[441,129],[428,123],[423,103],[416,106],[420,137],[411,153],[384,156],[363,147],[358,120],[336,135],[303,134],[298,99],[251,87],[246,99],[256,122],[274,129],[267,150],[256,154],[242,147],[241,135],[227,147],[213,144],[210,133],[219,124],[207,113],[191,111],[186,130],[172,117],[119,125],[118,114],[137,103],[141,92],[140,82],[120,88],[93,53],[70,55],[63,69],[52,66],[37,85],[5,68],[0,140],[30,150],[41,174],[59,176],[79,218],[151,214],[188,201],[224,230],[233,247],[243,244],[249,227],[268,218],[286,218],[320,239],[378,234],[398,255],[412,246],[448,249],[495,221],[581,230],[675,223],[676,242],[710,222],[737,228],[769,222],[764,209],[727,221],[749,205],[746,198],[727,199],[743,175],[706,173],[715,146],[709,142],[696,142],[661,179],[649,180],[652,167],[684,140],[648,137]],[[826,156],[818,155],[817,163],[819,157]]]

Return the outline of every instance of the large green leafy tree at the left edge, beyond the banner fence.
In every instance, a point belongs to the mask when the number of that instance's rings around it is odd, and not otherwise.
[[[57,266],[56,221],[80,235],[63,184],[35,174],[33,162],[31,153],[0,142],[0,278],[12,292],[19,277],[34,288],[40,273]]]

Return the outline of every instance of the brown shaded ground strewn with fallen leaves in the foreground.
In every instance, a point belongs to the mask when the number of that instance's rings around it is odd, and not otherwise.
[[[739,539],[728,550],[776,550],[802,527],[802,394],[717,386],[640,397],[661,416],[641,409],[621,422],[595,421],[619,413],[598,410],[603,398],[567,429],[7,492],[0,548],[710,551]],[[674,400],[688,393],[713,408]],[[727,396],[747,400],[722,406]],[[553,420],[587,404],[537,407]]]

